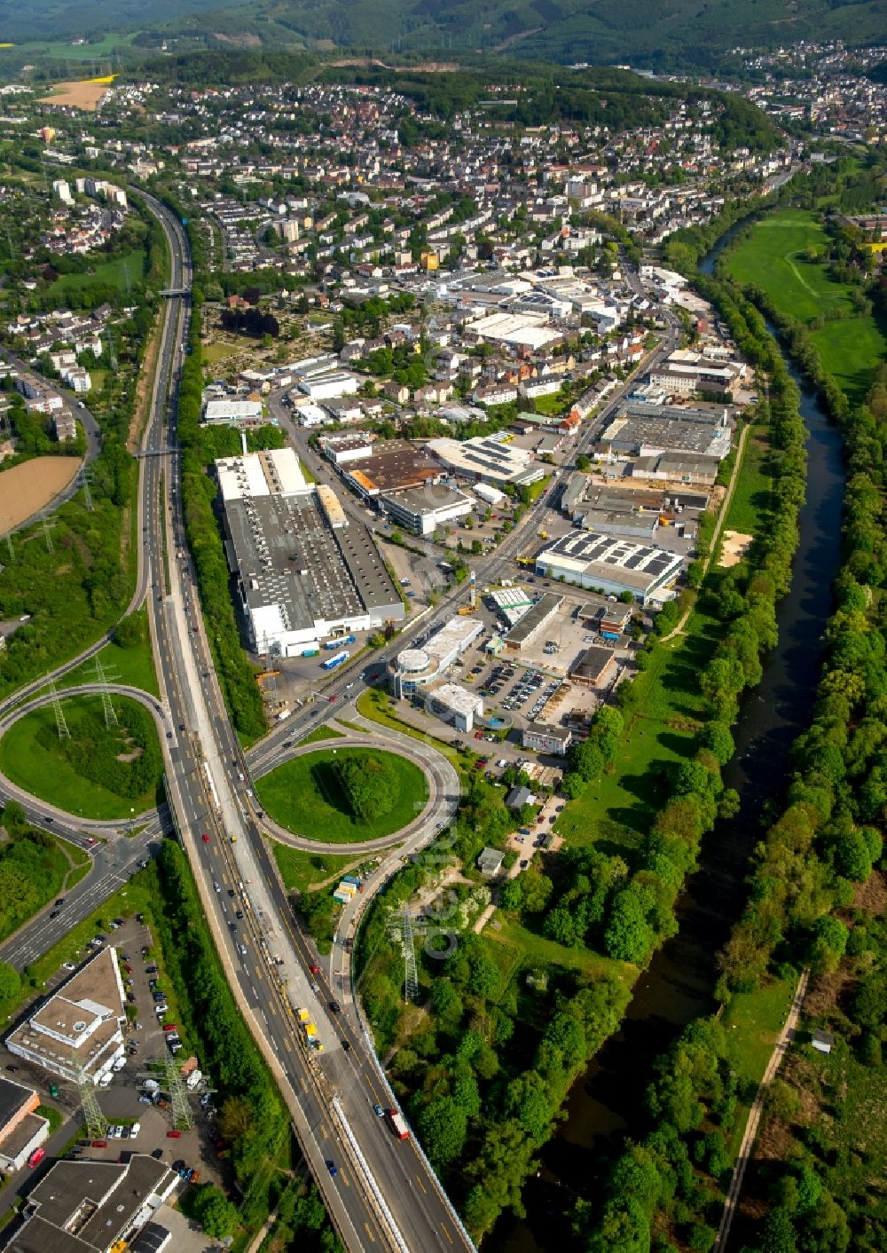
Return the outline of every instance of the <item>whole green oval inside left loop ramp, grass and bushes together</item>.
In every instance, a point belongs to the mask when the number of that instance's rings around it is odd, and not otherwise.
[[[69,697],[70,736],[59,738],[51,707],[20,718],[0,741],[0,771],[33,796],[84,818],[132,818],[157,804],[163,759],[150,714],[113,697],[118,727],[105,727],[100,697]]]

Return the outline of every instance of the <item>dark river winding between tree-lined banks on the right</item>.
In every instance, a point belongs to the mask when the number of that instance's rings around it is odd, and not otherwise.
[[[729,231],[702,263],[712,272]],[[492,1253],[559,1253],[570,1248],[570,1219],[579,1198],[594,1198],[625,1135],[643,1133],[643,1095],[651,1064],[693,1019],[717,1007],[714,956],[742,912],[748,858],[768,808],[782,799],[789,751],[813,714],[821,639],[832,609],[831,585],[841,549],[843,457],[838,431],[816,395],[801,387],[807,440],[807,500],[792,588],[777,608],[779,642],[764,659],[760,685],[748,693],[733,728],[737,753],[724,769],[740,796],[738,814],[705,837],[699,870],[678,901],[678,933],[639,979],[623,1030],[613,1036],[568,1098],[566,1120],[540,1154],[529,1180],[526,1219],[502,1218],[486,1243]]]

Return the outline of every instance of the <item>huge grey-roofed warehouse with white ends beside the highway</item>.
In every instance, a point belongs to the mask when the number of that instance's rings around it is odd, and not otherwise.
[[[226,551],[257,652],[292,657],[323,635],[403,619],[372,536],[292,449],[217,461]]]

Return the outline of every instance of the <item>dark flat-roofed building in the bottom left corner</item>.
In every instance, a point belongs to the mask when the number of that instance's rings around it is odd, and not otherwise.
[[[127,1162],[56,1162],[0,1238],[9,1253],[120,1253],[137,1248],[179,1177],[147,1153]],[[169,1235],[168,1232],[165,1232]],[[154,1243],[163,1249],[165,1243]]]

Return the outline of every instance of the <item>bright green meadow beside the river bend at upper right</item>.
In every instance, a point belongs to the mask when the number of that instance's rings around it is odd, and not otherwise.
[[[729,253],[727,269],[737,282],[759,287],[781,312],[802,322],[809,323],[821,313],[841,313],[839,321],[812,331],[811,338],[823,367],[858,403],[872,383],[874,367],[887,357],[887,325],[857,313],[852,288],[831,278],[827,266],[804,259],[808,248],[822,253],[827,242],[812,212],[784,209],[754,224],[750,238]]]

